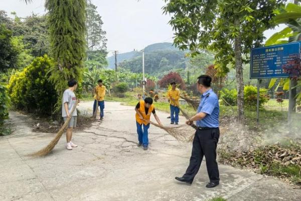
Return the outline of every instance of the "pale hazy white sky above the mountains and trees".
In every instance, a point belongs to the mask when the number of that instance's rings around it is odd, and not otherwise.
[[[44,14],[44,2],[33,0],[26,5],[23,0],[0,0],[0,9],[26,17],[31,13]],[[163,0],[92,0],[92,3],[102,17],[108,51],[123,53],[153,43],[173,41],[173,30],[168,25],[170,17],[162,12]],[[273,32],[266,31],[265,36],[268,38]]]

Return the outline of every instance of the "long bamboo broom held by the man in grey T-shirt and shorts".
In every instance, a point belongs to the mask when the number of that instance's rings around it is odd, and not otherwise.
[[[59,142],[61,136],[64,133],[64,130],[67,128],[70,120],[71,120],[71,115],[73,114],[74,110],[76,109],[77,104],[79,103],[79,101],[77,100],[76,104],[73,106],[70,116],[67,118],[66,122],[64,123],[64,125],[62,126],[62,128],[57,132],[55,138],[43,149],[41,149],[40,151],[37,151],[35,153],[32,154],[28,154],[28,156],[32,156],[32,157],[38,157],[38,156],[46,156],[47,154],[49,154],[51,152],[51,150],[55,147],[55,145]]]

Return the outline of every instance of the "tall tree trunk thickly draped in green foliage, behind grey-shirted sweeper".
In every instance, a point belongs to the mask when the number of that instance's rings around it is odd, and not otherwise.
[[[73,78],[80,82],[82,79],[86,52],[86,1],[46,0],[45,7],[49,13],[50,49],[56,62],[50,80],[61,97],[68,80]],[[57,109],[60,106],[59,98]]]

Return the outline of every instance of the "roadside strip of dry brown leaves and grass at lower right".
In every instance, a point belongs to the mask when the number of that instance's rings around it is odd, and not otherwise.
[[[219,150],[219,162],[275,176],[301,188],[301,146],[267,145],[247,152]]]

